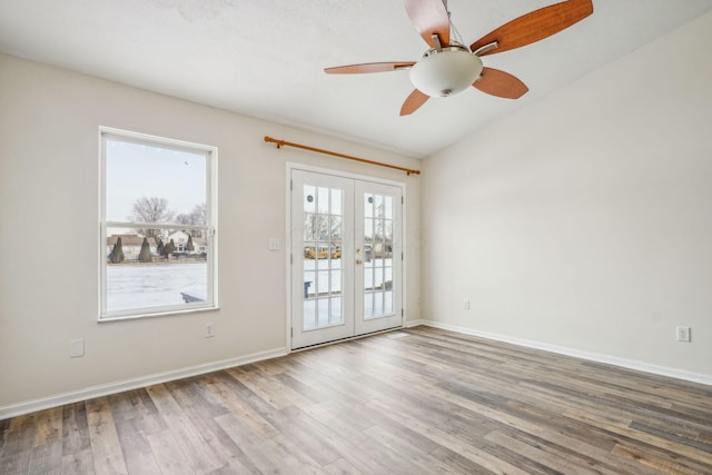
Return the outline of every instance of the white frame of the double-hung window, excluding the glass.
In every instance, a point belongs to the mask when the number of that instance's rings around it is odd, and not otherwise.
[[[206,225],[180,224],[146,224],[131,221],[108,221],[106,216],[107,202],[107,138],[131,144],[144,144],[152,147],[177,149],[205,154],[206,157]],[[166,315],[187,314],[206,310],[217,310],[218,307],[218,232],[217,232],[217,166],[218,148],[207,145],[192,144],[165,137],[150,136],[110,127],[99,127],[99,321],[115,321],[131,318],[158,317]],[[205,231],[207,246],[207,295],[205,301],[186,303],[184,305],[165,305],[142,307],[126,310],[107,311],[107,230],[108,228],[146,228],[155,229],[200,229]]]

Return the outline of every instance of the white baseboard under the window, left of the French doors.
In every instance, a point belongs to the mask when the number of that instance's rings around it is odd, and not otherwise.
[[[71,393],[58,394],[49,397],[28,400],[24,403],[12,404],[9,406],[0,406],[0,420],[22,414],[33,413],[37,410],[49,409],[51,407],[63,406],[65,404],[77,403],[95,397],[108,396],[110,394],[122,393],[130,389],[138,389],[154,384],[167,383],[170,380],[181,379],[190,376],[212,373],[220,369],[233,368],[235,366],[247,365],[249,363],[261,362],[264,359],[276,358],[279,356],[285,356],[287,354],[287,348],[276,348],[267,352],[254,353],[251,355],[246,355],[238,358],[188,366],[166,373],[157,373],[139,378],[126,379],[122,382],[109,383],[100,386],[92,386]]]

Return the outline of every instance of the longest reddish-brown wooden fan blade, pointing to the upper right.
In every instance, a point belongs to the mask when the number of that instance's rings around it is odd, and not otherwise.
[[[568,0],[515,18],[472,43],[474,52],[496,41],[500,46],[479,56],[494,55],[543,40],[593,13],[592,0]]]

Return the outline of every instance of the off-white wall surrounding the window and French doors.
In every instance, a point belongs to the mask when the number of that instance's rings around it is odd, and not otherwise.
[[[219,311],[97,323],[99,126],[219,148]],[[406,182],[406,313],[421,318],[421,178],[277,150],[263,141],[266,135],[408,168],[422,165],[0,56],[0,414],[31,399],[284,350],[287,161]],[[268,250],[270,237],[281,239],[283,250]],[[204,338],[206,321],[215,323],[215,338]],[[71,338],[85,338],[86,356],[69,358]]]

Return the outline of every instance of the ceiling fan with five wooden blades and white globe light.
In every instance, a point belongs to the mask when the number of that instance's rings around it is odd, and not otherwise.
[[[448,97],[469,86],[492,96],[518,99],[528,88],[508,72],[486,68],[482,57],[531,44],[557,33],[593,13],[592,0],[567,0],[526,13],[485,34],[468,47],[453,28],[447,0],[405,0],[405,9],[431,47],[419,61],[366,62],[326,68],[330,75],[411,70],[415,90],[400,108],[400,116],[415,112],[431,97]]]

